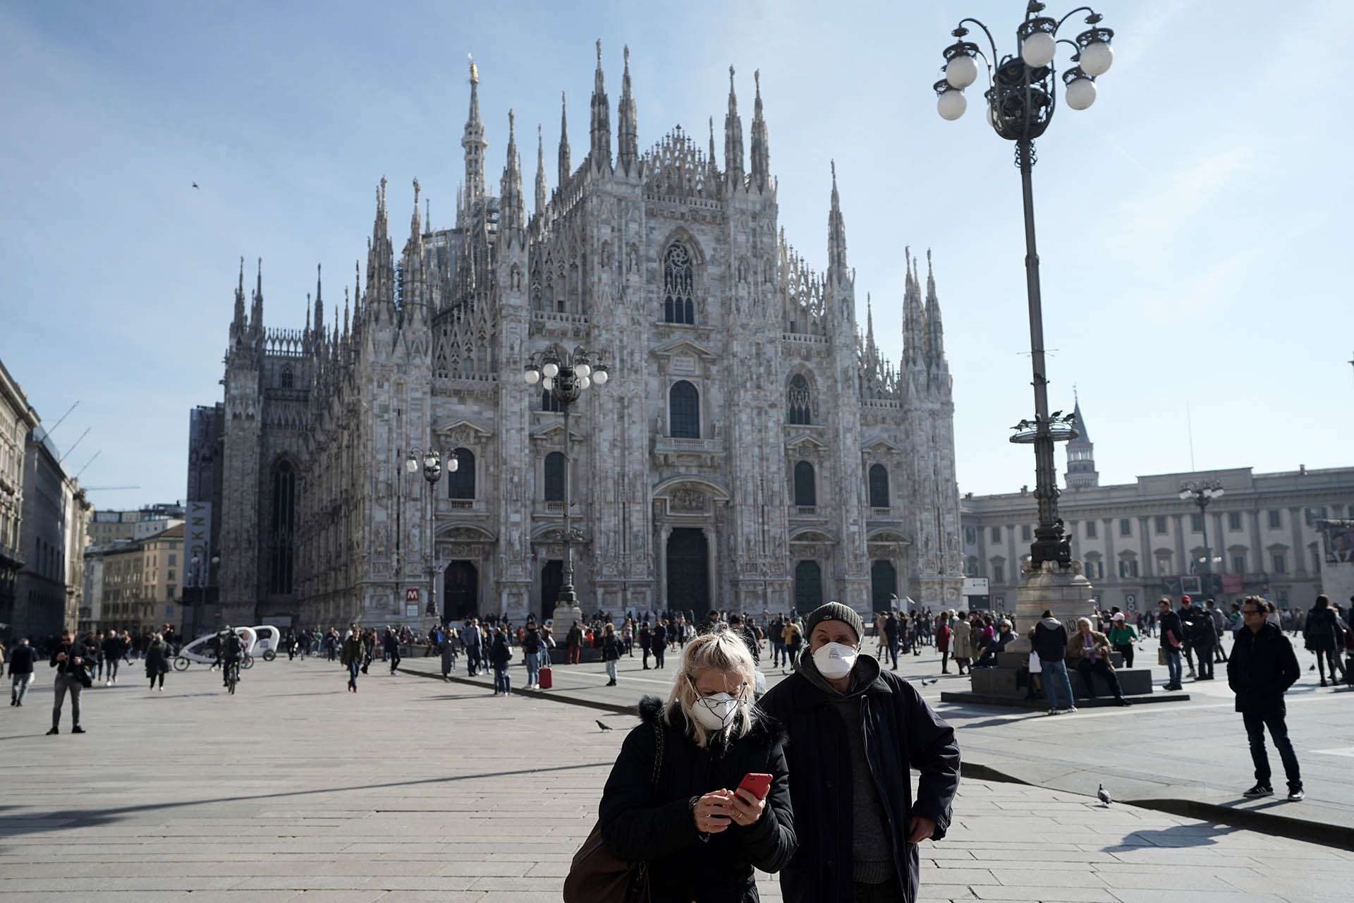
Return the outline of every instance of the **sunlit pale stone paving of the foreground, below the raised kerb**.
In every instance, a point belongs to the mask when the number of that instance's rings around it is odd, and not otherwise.
[[[337,665],[260,662],[229,697],[196,665],[164,693],[133,666],[85,693],[80,736],[69,712],[43,735],[39,674],[0,722],[0,899],[558,900],[634,719],[371,671],[352,695]],[[1343,903],[1354,883],[1351,853],[980,781],[922,860],[927,900]]]

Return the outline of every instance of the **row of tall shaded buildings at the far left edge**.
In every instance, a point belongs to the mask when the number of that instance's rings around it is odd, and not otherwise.
[[[74,627],[89,502],[38,412],[0,363],[0,636]]]

